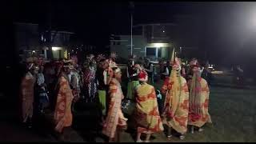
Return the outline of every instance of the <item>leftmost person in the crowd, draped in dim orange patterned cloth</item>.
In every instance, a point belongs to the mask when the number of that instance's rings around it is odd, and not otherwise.
[[[22,78],[21,96],[22,96],[22,122],[29,128],[32,127],[32,117],[34,112],[34,85],[35,75],[38,74],[38,66],[30,62],[27,66],[27,72]]]

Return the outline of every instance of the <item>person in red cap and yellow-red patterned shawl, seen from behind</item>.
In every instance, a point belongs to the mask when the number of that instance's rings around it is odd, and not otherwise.
[[[146,141],[150,142],[150,136],[163,130],[162,120],[158,111],[158,100],[154,86],[147,84],[148,76],[142,70],[138,74],[141,85],[137,86],[136,97],[136,123],[137,142],[142,142],[141,134],[146,134]]]

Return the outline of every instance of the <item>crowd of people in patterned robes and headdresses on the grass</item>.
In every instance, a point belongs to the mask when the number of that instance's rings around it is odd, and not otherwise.
[[[72,126],[72,103],[79,99],[98,102],[102,111],[102,134],[109,142],[118,142],[120,132],[127,129],[127,121],[122,110],[122,101],[129,99],[135,103],[136,142],[150,142],[151,134],[168,126],[167,138],[173,130],[185,138],[190,126],[202,131],[206,122],[211,122],[208,112],[209,86],[202,78],[202,68],[196,58],[190,62],[189,69],[182,66],[179,58],[166,62],[161,71],[164,84],[156,90],[154,84],[154,65],[147,58],[129,58],[126,66],[126,94],[122,92],[122,68],[116,62],[116,55],[109,58],[99,54],[86,56],[83,65],[78,65],[76,57],[70,60],[44,63],[41,58],[27,58],[26,74],[22,78],[22,122],[32,126],[34,110],[44,114],[54,112],[54,130],[61,136],[66,128]],[[164,96],[164,105],[159,98]],[[36,101],[35,99],[38,99]],[[146,134],[142,141],[141,135]]]

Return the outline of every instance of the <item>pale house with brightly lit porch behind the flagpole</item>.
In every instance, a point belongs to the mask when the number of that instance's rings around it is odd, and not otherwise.
[[[167,59],[173,50],[170,28],[172,23],[143,24],[133,27],[133,50],[132,54],[137,57],[147,57],[152,61],[158,58]],[[119,57],[128,58],[131,54],[130,35],[112,35],[110,38],[110,51],[115,51]]]

